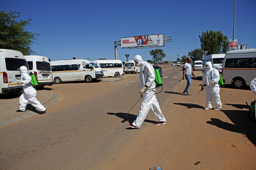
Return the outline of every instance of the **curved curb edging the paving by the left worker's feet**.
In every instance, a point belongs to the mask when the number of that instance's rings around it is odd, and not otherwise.
[[[50,92],[50,91],[49,91]],[[48,100],[47,102],[45,103],[42,103],[42,105],[44,105],[44,107],[46,109],[48,109],[50,106],[52,106],[55,102],[58,101],[58,99],[60,98],[60,95],[55,93],[55,92],[51,92],[53,93],[53,97]],[[37,111],[37,110],[36,110]],[[37,111],[39,113],[39,111]],[[34,115],[38,115],[38,113],[36,113],[35,111],[28,111],[28,112],[25,112],[25,113],[22,113],[20,115],[16,115],[14,117],[11,117],[9,119],[5,119],[5,120],[2,120],[0,121],[0,127],[3,127],[3,126],[6,126],[6,125],[10,125],[12,123],[15,123],[15,122],[18,122],[18,121],[21,121],[23,119],[26,119],[28,117],[31,117],[31,116],[34,116]]]

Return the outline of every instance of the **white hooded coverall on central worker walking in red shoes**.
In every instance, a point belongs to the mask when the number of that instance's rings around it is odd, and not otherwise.
[[[156,99],[156,83],[153,66],[151,66],[148,62],[143,61],[140,55],[136,55],[134,57],[134,61],[138,63],[138,66],[140,66],[141,87],[145,85],[148,87],[146,88],[147,91],[145,90],[145,92],[142,94],[143,101],[140,105],[140,111],[136,120],[132,124],[139,128],[142,125],[143,121],[146,119],[150,108],[158,118],[159,122],[165,122],[166,119],[164,118],[159,103]]]

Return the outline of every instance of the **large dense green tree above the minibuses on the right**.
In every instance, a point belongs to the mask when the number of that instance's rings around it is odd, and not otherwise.
[[[208,51],[207,55],[225,54],[228,51],[228,37],[223,35],[221,31],[214,31],[210,29],[210,31],[207,30],[206,32],[202,32],[202,36],[199,35],[199,38],[201,42],[201,49]]]

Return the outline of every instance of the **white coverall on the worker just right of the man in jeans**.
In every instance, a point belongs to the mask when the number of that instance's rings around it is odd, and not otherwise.
[[[202,84],[206,84],[205,91],[206,91],[206,107],[212,108],[212,100],[214,101],[216,108],[220,109],[222,103],[220,102],[220,86],[218,84],[220,80],[220,73],[217,69],[212,68],[212,62],[208,61],[205,64],[209,66],[209,69],[205,70],[203,73],[203,80]],[[215,83],[210,85],[211,81]]]

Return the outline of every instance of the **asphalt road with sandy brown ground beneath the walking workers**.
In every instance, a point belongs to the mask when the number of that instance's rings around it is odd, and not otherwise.
[[[150,111],[140,129],[128,127],[140,109],[138,76],[58,84],[49,90],[62,100],[46,114],[0,129],[0,169],[256,169],[256,125],[245,106],[252,92],[221,88],[222,109],[204,111],[205,91],[190,106],[202,72],[184,96],[182,67],[162,69],[157,99],[166,125],[154,126]]]

